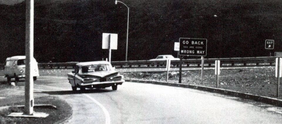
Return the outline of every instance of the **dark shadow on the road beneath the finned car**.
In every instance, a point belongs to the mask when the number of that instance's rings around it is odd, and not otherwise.
[[[105,93],[110,92],[111,90],[106,89],[86,89],[85,91],[42,91],[34,93],[50,94],[50,95],[67,95],[67,94],[88,94],[88,93]]]

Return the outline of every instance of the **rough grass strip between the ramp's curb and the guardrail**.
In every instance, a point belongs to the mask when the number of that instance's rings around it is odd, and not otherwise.
[[[174,72],[175,73],[175,72]],[[145,80],[145,81],[163,81],[166,82],[167,73],[146,73],[130,72],[122,73],[126,79]],[[250,93],[254,95],[276,97],[277,78],[274,68],[256,68],[256,69],[226,69],[221,70],[219,75],[219,88]],[[178,83],[179,73],[169,74],[170,83]],[[214,70],[204,70],[203,82],[201,81],[201,71],[183,71],[182,83],[216,87],[216,75]],[[280,83],[281,84],[281,83]],[[282,96],[280,90],[279,96]],[[278,97],[282,99],[282,97]]]

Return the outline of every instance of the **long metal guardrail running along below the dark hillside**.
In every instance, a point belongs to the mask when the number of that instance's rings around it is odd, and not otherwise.
[[[214,58],[204,59],[204,66],[214,66],[215,60],[220,60],[221,67],[240,67],[240,66],[273,66],[276,57],[245,57],[245,58]],[[182,60],[183,67],[200,67],[201,59]],[[74,68],[78,62],[68,63],[38,63],[40,69],[53,68]],[[165,68],[166,61],[115,61],[111,62],[115,68]],[[172,67],[179,67],[179,60],[171,61]],[[5,64],[0,64],[0,69],[4,69]]]

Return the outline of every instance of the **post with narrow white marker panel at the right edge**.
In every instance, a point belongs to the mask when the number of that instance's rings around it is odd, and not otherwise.
[[[282,58],[276,58],[276,61],[275,61],[275,77],[277,77],[277,94],[276,94],[276,96],[279,97],[280,77],[282,77]]]

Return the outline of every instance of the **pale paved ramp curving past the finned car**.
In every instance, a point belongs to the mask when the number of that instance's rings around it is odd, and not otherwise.
[[[66,123],[282,122],[280,113],[252,102],[180,87],[125,82],[117,91],[106,88],[73,92],[65,77],[41,77],[34,87],[35,95],[55,95],[70,104],[73,115]]]

